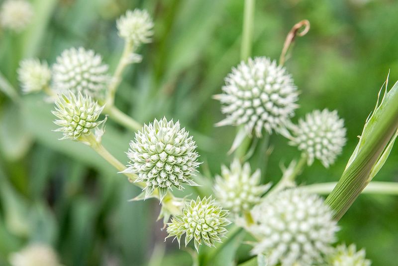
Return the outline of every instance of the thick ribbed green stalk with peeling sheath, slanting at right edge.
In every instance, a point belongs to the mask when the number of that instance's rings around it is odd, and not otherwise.
[[[398,128],[398,83],[382,100],[365,124],[360,146],[354,151],[337,185],[326,198],[334,212],[333,218],[339,220],[349,209],[358,195],[370,182],[369,177],[390,139]]]

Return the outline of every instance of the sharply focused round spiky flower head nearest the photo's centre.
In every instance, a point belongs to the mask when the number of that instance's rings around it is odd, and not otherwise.
[[[138,175],[137,182],[145,182],[145,197],[159,189],[162,200],[168,189],[183,189],[183,184],[197,185],[190,177],[199,166],[193,137],[180,128],[180,122],[154,120],[135,133],[127,156],[127,172]]]

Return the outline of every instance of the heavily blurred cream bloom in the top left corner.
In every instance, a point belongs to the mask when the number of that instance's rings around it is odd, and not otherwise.
[[[31,22],[33,7],[25,0],[6,0],[1,5],[0,23],[4,28],[21,32]]]

